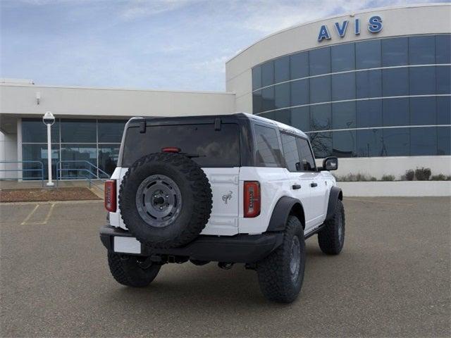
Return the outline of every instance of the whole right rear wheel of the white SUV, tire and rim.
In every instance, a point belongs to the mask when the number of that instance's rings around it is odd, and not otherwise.
[[[304,231],[299,219],[290,216],[283,243],[257,263],[261,292],[270,301],[291,303],[301,291],[304,269]]]

